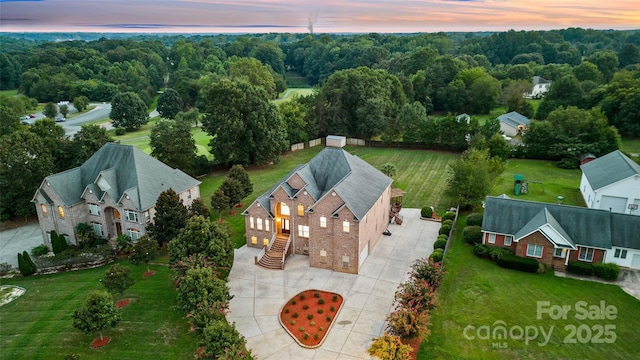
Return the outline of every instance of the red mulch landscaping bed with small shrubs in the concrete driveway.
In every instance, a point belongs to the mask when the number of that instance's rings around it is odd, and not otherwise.
[[[282,307],[280,324],[300,346],[316,348],[322,345],[343,302],[336,293],[305,290]]]

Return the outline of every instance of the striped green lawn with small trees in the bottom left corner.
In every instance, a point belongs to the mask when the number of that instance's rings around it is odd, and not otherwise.
[[[189,324],[174,309],[176,295],[166,266],[151,265],[157,273],[143,277],[146,265],[131,267],[136,284],[125,297],[132,302],[122,309],[122,321],[104,335],[111,343],[99,350],[72,326],[71,314],[91,290],[102,290],[100,279],[110,265],[100,268],[28,278],[1,279],[27,292],[0,307],[0,358],[62,359],[77,353],[80,359],[190,359],[197,349]]]

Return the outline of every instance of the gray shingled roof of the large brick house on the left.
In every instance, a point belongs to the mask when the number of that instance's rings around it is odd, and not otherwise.
[[[99,177],[111,186],[107,190],[111,198],[119,201],[126,192],[138,210],[154,206],[160,193],[169,188],[181,193],[200,183],[133,146],[116,143],[105,144],[81,166],[45,179],[64,204],[70,206],[82,201],[86,188],[99,190],[95,184]],[[96,195],[104,193],[99,191]]]

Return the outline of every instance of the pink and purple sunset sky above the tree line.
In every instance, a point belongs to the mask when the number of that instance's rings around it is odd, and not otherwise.
[[[0,0],[2,32],[640,29],[639,0]]]

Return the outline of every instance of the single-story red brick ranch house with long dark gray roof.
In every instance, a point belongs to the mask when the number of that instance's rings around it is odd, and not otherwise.
[[[482,243],[556,270],[570,261],[640,269],[640,217],[577,206],[488,196]]]

